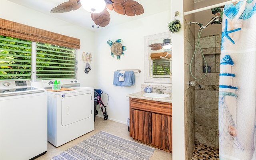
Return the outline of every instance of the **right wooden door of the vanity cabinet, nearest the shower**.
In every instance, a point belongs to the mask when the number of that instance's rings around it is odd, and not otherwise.
[[[172,117],[152,113],[152,144],[172,151]]]

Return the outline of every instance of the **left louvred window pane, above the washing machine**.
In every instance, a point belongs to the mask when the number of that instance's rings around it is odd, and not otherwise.
[[[0,79],[31,79],[32,42],[0,36]]]

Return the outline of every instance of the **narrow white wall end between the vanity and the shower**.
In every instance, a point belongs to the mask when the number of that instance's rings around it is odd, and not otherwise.
[[[184,130],[184,16],[183,1],[172,0],[172,17],[180,12],[177,19],[182,28],[172,34],[172,159],[185,160]]]

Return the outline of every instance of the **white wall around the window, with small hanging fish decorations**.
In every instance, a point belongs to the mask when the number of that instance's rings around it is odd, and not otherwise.
[[[82,86],[94,87],[94,69],[88,74],[84,73],[86,63],[82,61],[83,51],[91,52],[93,57],[95,55],[94,32],[25,8],[8,0],[0,1],[0,18],[80,39],[81,47],[78,50],[77,78]],[[94,68],[95,63],[96,61],[91,63],[92,68]]]

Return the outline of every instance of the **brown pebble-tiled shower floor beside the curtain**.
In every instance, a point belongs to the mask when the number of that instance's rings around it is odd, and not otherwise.
[[[191,160],[219,160],[218,148],[195,143]]]

